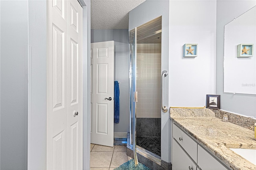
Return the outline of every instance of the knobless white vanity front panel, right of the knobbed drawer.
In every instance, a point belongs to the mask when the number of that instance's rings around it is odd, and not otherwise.
[[[198,145],[198,166],[202,170],[227,170],[218,160],[210,155],[202,146]]]

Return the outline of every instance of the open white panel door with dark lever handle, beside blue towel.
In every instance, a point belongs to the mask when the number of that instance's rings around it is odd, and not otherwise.
[[[91,143],[113,146],[114,41],[91,43],[91,48]]]

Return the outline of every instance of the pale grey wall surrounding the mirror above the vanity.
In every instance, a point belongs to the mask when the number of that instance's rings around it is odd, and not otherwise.
[[[256,117],[256,95],[224,93],[224,26],[256,5],[255,0],[218,0],[216,30],[216,93],[221,95],[221,109]]]

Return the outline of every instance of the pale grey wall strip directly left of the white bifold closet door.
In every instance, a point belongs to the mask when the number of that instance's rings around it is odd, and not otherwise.
[[[28,1],[28,169],[46,169],[46,1]]]

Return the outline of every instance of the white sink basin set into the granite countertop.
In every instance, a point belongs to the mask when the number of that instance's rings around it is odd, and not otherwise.
[[[241,149],[241,148],[230,148],[249,162],[256,165],[256,149]]]

